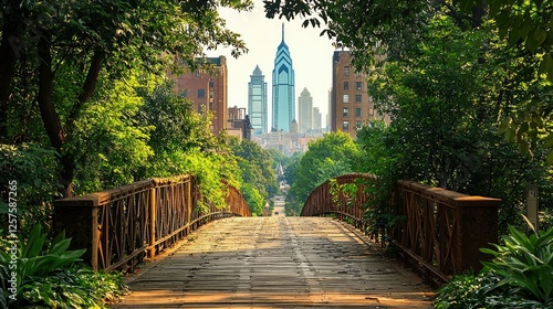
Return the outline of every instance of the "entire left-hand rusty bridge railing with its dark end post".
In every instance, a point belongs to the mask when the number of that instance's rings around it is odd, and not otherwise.
[[[250,216],[242,194],[227,185],[227,207],[198,207],[192,175],[149,179],[112,190],[54,202],[54,228],[65,230],[72,246],[86,248],[93,269],[134,268],[204,223]]]

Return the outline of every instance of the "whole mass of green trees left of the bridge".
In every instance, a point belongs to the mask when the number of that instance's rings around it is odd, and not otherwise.
[[[8,213],[10,181],[27,235],[34,223],[50,223],[54,199],[194,173],[215,203],[223,201],[225,180],[261,214],[278,188],[272,157],[212,135],[212,116],[192,110],[167,78],[184,62],[209,70],[206,47],[246,52],[218,10],[247,10],[251,1],[104,4],[0,8],[0,213]]]

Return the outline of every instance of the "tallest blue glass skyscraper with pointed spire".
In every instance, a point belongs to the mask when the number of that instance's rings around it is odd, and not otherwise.
[[[289,132],[292,120],[295,120],[295,92],[292,58],[284,43],[284,24],[282,24],[282,41],[274,58],[272,86],[272,129]]]

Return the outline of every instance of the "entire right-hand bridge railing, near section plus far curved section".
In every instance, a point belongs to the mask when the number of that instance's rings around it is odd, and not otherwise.
[[[357,195],[341,193],[336,199],[336,194],[331,194],[331,181],[326,181],[310,194],[302,215],[332,214],[366,232],[371,222],[364,214],[371,195],[365,189],[375,178],[345,174],[335,181],[357,183]],[[480,269],[480,260],[489,256],[479,249],[498,242],[499,199],[470,196],[404,180],[397,182],[396,192],[390,195],[388,211],[404,220],[386,236],[428,283],[440,285],[451,275]]]

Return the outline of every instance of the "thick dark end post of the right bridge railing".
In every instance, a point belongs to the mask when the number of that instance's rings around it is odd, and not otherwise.
[[[482,268],[480,260],[491,256],[480,252],[482,247],[490,247],[490,243],[498,243],[498,210],[499,199],[465,196],[457,198],[456,220],[458,249],[456,251],[456,274]]]

